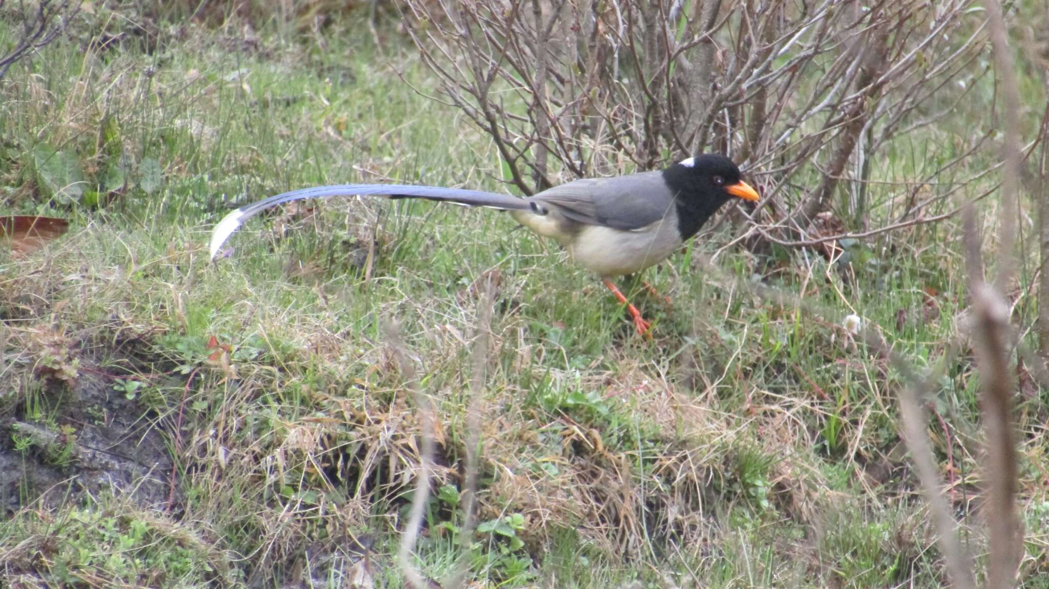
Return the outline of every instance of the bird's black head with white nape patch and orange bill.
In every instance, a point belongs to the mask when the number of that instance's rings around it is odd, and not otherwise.
[[[695,235],[730,198],[759,198],[750,184],[740,179],[740,168],[724,155],[708,153],[683,159],[663,170],[663,181],[675,194],[683,239]]]

